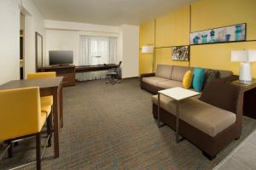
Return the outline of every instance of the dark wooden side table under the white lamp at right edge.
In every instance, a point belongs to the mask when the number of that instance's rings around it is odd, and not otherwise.
[[[236,86],[240,86],[243,91],[243,115],[249,116],[253,119],[256,119],[256,79],[253,79],[252,82],[243,84],[239,80],[232,82]]]

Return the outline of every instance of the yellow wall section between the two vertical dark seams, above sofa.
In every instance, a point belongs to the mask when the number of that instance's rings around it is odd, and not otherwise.
[[[185,65],[187,61],[172,60],[172,46],[189,45],[189,7],[156,19],[155,65]]]

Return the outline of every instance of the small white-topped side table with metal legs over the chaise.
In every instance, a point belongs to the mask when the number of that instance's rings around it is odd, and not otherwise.
[[[185,89],[185,88],[168,88],[165,90],[158,91],[158,127],[160,127],[160,95],[164,95],[168,98],[174,99],[177,105],[177,113],[176,113],[176,142],[178,143],[179,135],[178,135],[178,124],[179,124],[179,102],[184,99],[189,99],[200,93]]]

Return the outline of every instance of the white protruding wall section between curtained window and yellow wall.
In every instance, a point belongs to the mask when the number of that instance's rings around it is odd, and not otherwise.
[[[122,77],[139,76],[139,27],[138,26],[121,26],[121,43],[122,43]]]

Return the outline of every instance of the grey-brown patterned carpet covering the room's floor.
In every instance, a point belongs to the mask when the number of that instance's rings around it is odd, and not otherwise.
[[[208,161],[187,140],[176,144],[169,127],[158,128],[151,113],[151,95],[137,79],[110,85],[104,81],[78,82],[64,89],[64,127],[60,158],[47,148],[43,169],[212,169],[256,129],[256,121],[243,118],[241,139]],[[12,159],[0,169],[35,159],[35,140],[15,147]],[[32,164],[26,169],[35,169]]]

